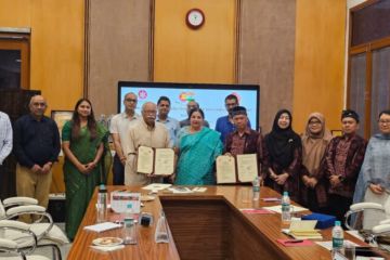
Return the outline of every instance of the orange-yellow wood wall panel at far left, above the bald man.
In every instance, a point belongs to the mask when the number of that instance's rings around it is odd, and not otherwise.
[[[51,109],[73,109],[82,96],[84,1],[0,0],[1,27],[30,27],[30,89]]]

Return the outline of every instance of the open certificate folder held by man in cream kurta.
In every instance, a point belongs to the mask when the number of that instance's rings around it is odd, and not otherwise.
[[[170,176],[174,171],[174,152],[171,148],[138,148],[136,172]]]

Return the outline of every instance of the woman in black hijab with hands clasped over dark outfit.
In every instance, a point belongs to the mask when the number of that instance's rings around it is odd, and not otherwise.
[[[302,144],[300,136],[292,131],[291,122],[291,113],[282,109],[275,116],[272,131],[265,135],[265,145],[270,154],[270,174],[265,184],[276,192],[288,192],[297,202]]]

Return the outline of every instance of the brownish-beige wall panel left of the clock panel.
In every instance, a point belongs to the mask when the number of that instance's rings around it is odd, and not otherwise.
[[[86,0],[88,98],[95,115],[117,113],[119,80],[150,79],[151,0]]]

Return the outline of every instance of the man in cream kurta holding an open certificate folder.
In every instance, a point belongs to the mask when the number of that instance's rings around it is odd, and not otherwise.
[[[125,167],[126,185],[162,182],[162,176],[173,171],[173,150],[167,128],[156,120],[157,106],[146,102],[142,119],[129,130],[128,160]],[[165,150],[169,148],[169,150]]]

